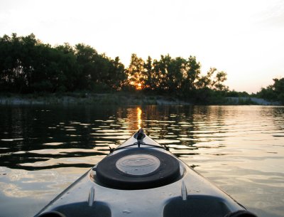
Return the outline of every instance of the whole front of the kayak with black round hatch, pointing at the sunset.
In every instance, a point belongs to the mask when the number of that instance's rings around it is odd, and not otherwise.
[[[35,217],[256,217],[143,129],[110,151]]]

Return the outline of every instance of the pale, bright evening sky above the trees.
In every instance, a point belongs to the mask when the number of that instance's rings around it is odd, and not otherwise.
[[[194,55],[230,90],[258,92],[284,77],[283,0],[0,0],[0,36],[31,33],[52,46],[146,60]]]

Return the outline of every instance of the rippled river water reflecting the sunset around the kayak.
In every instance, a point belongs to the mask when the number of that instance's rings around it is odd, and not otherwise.
[[[259,217],[284,216],[284,107],[0,106],[0,216],[34,216],[138,128]]]

